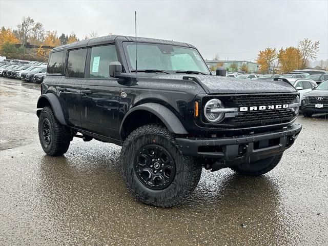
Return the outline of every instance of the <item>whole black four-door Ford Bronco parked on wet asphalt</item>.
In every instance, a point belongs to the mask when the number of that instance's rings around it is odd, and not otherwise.
[[[48,155],[73,137],[119,145],[131,193],[161,207],[188,196],[202,167],[269,172],[302,128],[287,81],[212,75],[194,46],[167,40],[111,35],[54,48],[41,91]]]

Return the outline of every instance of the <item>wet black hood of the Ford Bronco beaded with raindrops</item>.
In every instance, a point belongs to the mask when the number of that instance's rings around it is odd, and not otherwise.
[[[139,74],[138,77],[150,77],[149,74]],[[185,79],[183,79],[185,77]],[[188,78],[189,77],[189,78]],[[161,74],[153,75],[152,78],[158,79],[183,79],[194,80],[208,94],[221,93],[280,93],[280,92],[297,92],[289,83],[284,81],[268,81],[261,79],[237,79],[230,77],[221,77],[214,75],[197,75],[197,74]]]

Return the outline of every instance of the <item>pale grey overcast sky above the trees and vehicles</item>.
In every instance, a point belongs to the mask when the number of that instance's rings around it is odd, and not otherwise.
[[[58,34],[84,38],[137,35],[195,45],[204,58],[254,60],[268,46],[320,41],[318,60],[328,59],[328,1],[7,1],[0,26],[15,28],[23,16]]]

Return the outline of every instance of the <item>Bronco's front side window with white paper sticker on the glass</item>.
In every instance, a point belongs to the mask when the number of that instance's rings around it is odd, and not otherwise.
[[[118,61],[115,45],[91,48],[90,78],[108,78],[109,64]]]

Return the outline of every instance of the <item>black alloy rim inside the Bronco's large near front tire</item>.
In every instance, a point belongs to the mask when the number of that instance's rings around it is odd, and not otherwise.
[[[134,159],[138,179],[152,190],[167,188],[175,176],[175,162],[163,147],[152,144],[139,149]]]

